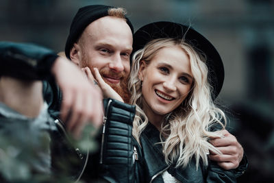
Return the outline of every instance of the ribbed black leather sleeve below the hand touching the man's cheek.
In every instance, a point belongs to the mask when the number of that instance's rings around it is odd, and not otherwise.
[[[101,177],[109,182],[131,182],[133,168],[132,122],[135,106],[104,99]]]

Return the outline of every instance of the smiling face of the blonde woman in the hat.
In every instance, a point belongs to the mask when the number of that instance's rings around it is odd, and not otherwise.
[[[175,110],[186,99],[193,82],[190,60],[179,46],[160,49],[149,65],[142,60],[139,77],[142,106],[148,117],[164,116]]]

